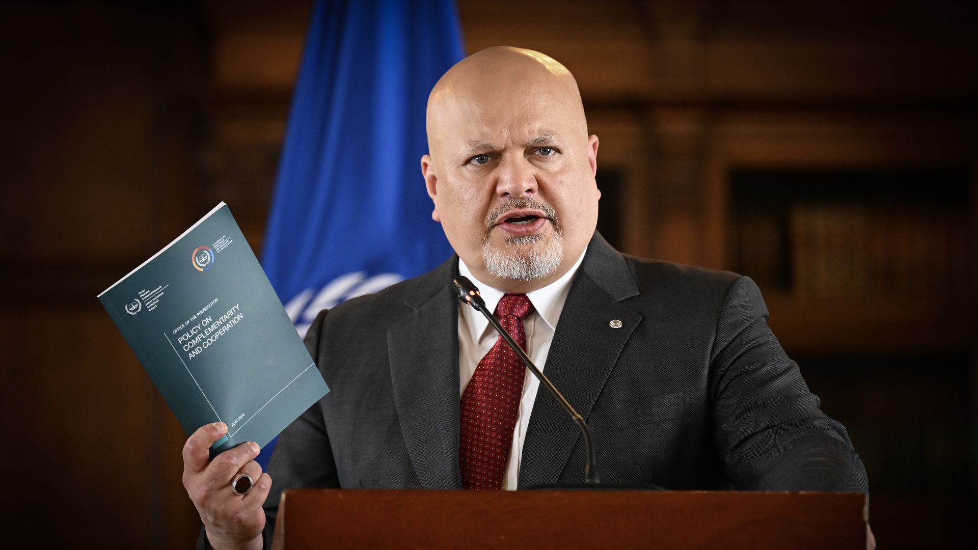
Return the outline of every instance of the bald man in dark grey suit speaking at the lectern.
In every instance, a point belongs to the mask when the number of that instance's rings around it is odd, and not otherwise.
[[[188,439],[184,484],[214,548],[270,542],[289,487],[583,479],[576,426],[455,298],[460,273],[588,419],[602,481],[867,491],[753,282],[624,256],[595,232],[599,142],[563,66],[528,50],[474,54],[431,91],[427,132],[432,216],[458,257],[320,313],[306,344],[333,391],[282,434],[271,478],[253,446],[207,462],[224,426]],[[229,487],[239,472],[255,480],[244,496]]]

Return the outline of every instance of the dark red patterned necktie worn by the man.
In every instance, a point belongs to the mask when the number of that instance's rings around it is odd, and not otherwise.
[[[533,311],[526,295],[506,295],[496,317],[520,347],[526,349],[523,318]],[[503,337],[475,367],[462,393],[462,438],[459,467],[467,489],[500,489],[516,427],[525,365]]]

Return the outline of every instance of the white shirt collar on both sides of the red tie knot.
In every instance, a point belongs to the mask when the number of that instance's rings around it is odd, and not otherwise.
[[[563,310],[564,302],[567,301],[567,293],[570,292],[570,282],[574,279],[574,274],[577,273],[577,269],[581,266],[581,261],[584,260],[585,253],[587,253],[587,249],[581,252],[580,257],[577,258],[574,265],[566,273],[561,275],[559,279],[542,289],[526,293],[526,298],[530,299],[534,311],[540,315],[540,318],[547,323],[547,326],[552,331],[556,332],[556,322],[560,318],[560,311]],[[472,275],[471,270],[468,269],[466,262],[461,257],[459,258],[459,274],[468,277],[478,287],[479,294],[485,300],[486,307],[489,311],[496,311],[499,300],[506,293],[479,281],[477,277]],[[459,305],[462,307],[462,314],[466,321],[468,335],[471,337],[472,342],[478,344],[484,337],[486,330],[489,329],[489,321],[481,313],[476,311],[474,307],[462,302],[459,302]]]

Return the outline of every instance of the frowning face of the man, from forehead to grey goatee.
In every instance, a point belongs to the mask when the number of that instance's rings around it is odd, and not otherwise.
[[[429,123],[432,217],[474,274],[507,292],[559,278],[598,221],[598,138],[567,96],[533,83],[460,93]]]

